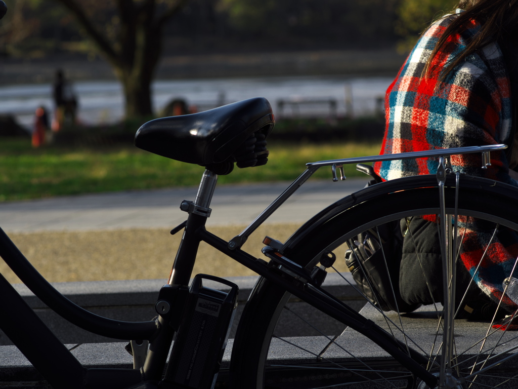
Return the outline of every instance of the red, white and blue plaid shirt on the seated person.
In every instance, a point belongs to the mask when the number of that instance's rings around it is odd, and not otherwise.
[[[439,82],[444,65],[461,53],[479,30],[476,22],[453,35],[431,62],[428,77],[422,75],[440,36],[455,17],[444,17],[429,27],[387,90],[381,154],[507,143],[512,117],[510,80],[497,44],[469,55]],[[488,169],[481,168],[478,154],[452,156],[451,163],[454,171],[518,186],[509,176],[509,162],[503,151],[491,153],[492,165]],[[394,179],[435,174],[437,166],[438,159],[429,158],[377,162],[375,170],[384,179]],[[518,236],[501,230],[491,238],[492,230],[486,227],[477,220],[464,225],[461,259],[480,289],[498,301],[503,292],[502,274],[509,275],[518,255]],[[508,311],[516,310],[507,297],[502,303]]]

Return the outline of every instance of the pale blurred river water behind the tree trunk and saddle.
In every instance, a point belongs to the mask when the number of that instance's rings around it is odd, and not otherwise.
[[[153,105],[160,112],[169,101],[180,98],[205,110],[262,96],[270,101],[277,117],[334,115],[329,104],[310,102],[314,100],[335,101],[337,116],[362,116],[380,109],[380,98],[391,81],[388,77],[350,76],[157,80],[153,84]],[[31,129],[36,108],[53,107],[51,88],[49,84],[0,86],[0,114],[13,114],[22,126]],[[82,123],[111,123],[122,118],[123,96],[118,82],[75,82],[74,90]],[[281,108],[280,100],[298,103]]]

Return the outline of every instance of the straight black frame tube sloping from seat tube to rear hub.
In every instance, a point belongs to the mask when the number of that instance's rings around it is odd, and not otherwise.
[[[409,349],[410,355],[408,355],[407,348],[404,343],[392,338],[390,334],[387,334],[386,331],[374,322],[350,309],[346,304],[343,304],[324,290],[311,286],[299,287],[301,283],[294,277],[287,274],[281,275],[272,271],[272,269],[265,266],[263,262],[250,254],[243,252],[241,249],[229,249],[226,241],[205,229],[200,228],[197,233],[200,240],[208,243],[220,252],[263,276],[268,281],[281,286],[289,293],[297,296],[301,300],[311,304],[313,307],[376,342],[383,350],[392,355],[398,362],[407,367],[416,376],[421,378],[428,386],[435,387],[437,377],[421,366],[421,364],[428,363],[429,360],[412,349]]]

